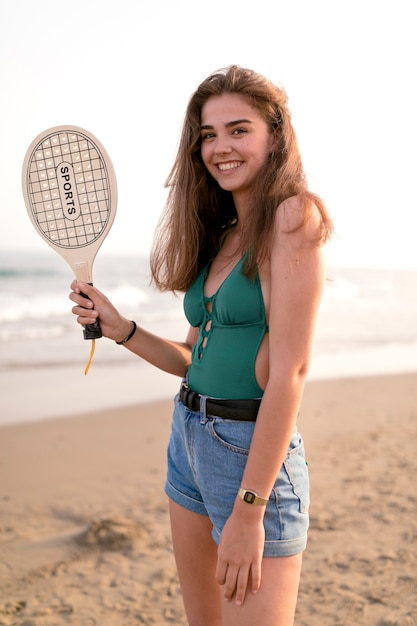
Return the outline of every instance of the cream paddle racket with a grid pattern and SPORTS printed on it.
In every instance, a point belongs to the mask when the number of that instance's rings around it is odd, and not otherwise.
[[[50,128],[28,148],[22,188],[35,229],[78,280],[93,284],[94,259],[117,208],[116,176],[104,147],[77,126]],[[83,332],[84,339],[102,336],[98,321]]]

